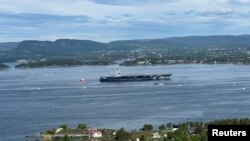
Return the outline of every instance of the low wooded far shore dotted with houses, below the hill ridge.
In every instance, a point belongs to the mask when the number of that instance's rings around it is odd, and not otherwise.
[[[23,59],[25,60],[25,59]],[[250,64],[250,48],[227,49],[138,49],[127,51],[93,51],[89,54],[54,56],[26,60],[16,68],[112,65],[171,65],[171,64]]]

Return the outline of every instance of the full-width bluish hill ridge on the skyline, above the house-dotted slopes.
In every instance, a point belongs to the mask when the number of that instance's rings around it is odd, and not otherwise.
[[[91,40],[58,39],[55,41],[27,40],[4,45],[8,57],[71,55],[100,50],[133,50],[139,48],[239,48],[250,47],[250,35],[187,36],[162,39],[120,40],[101,43]],[[1,55],[1,54],[0,54]],[[0,59],[4,58],[0,56]],[[25,58],[25,57],[23,57]]]

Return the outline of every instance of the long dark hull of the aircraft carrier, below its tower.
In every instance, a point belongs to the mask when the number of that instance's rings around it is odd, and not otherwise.
[[[102,76],[100,82],[126,82],[126,81],[150,81],[166,80],[172,74],[145,74],[145,75],[121,75],[121,76]]]

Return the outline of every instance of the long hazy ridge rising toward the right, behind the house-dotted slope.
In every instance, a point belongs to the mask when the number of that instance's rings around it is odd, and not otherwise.
[[[163,39],[123,40],[109,43],[114,49],[150,48],[238,48],[250,47],[250,35],[187,36]]]

